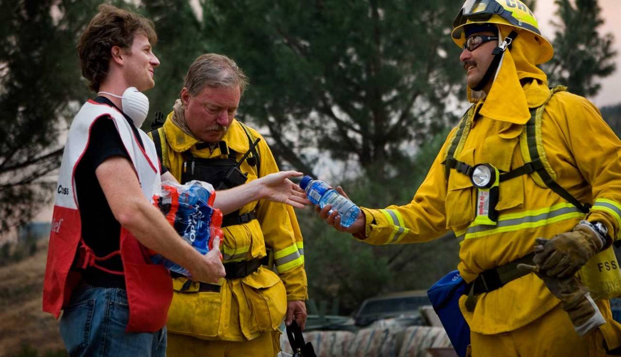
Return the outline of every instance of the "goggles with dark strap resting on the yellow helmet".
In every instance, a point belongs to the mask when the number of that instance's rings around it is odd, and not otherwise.
[[[535,32],[535,34],[541,35],[537,27],[516,19],[513,16],[513,12],[502,7],[496,0],[466,0],[460,12],[455,16],[455,20],[453,20],[453,29],[465,24],[468,20],[472,22],[484,22],[494,15],[502,17],[516,27],[522,27],[523,29],[531,30]]]

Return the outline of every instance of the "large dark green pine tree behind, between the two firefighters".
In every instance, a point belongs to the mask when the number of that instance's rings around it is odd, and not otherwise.
[[[267,129],[280,161],[311,174],[319,155],[382,179],[455,118],[462,88],[450,0],[206,0],[195,44],[250,77],[239,117]],[[189,24],[193,31],[193,24]],[[317,154],[314,148],[321,148]]]

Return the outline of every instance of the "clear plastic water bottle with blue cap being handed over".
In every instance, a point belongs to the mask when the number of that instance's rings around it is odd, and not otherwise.
[[[310,176],[304,176],[300,182],[300,187],[306,191],[309,200],[315,205],[319,205],[320,208],[332,205],[332,210],[337,210],[341,216],[343,227],[351,226],[360,214],[360,208],[355,203],[340,195],[322,180],[313,180]]]

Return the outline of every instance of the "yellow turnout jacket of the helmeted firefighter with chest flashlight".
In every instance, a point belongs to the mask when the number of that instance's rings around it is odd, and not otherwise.
[[[522,34],[520,34],[522,35]],[[469,111],[464,142],[455,159],[468,165],[492,164],[509,172],[529,162],[524,151],[528,108],[538,108],[550,95],[545,73],[532,65],[527,40],[516,40],[487,100]],[[536,54],[536,52],[535,52]],[[508,63],[508,64],[507,64]],[[504,74],[503,74],[504,73]],[[512,80],[514,78],[514,80]],[[501,85],[497,85],[501,83]],[[524,103],[519,115],[514,98]],[[518,103],[519,104],[519,103]],[[522,105],[522,104],[519,104]],[[526,108],[526,106],[528,108]],[[478,112],[479,115],[474,115]],[[442,165],[456,136],[453,129],[412,202],[384,210],[363,208],[369,244],[430,241],[453,230],[460,242],[458,269],[467,282],[478,274],[532,253],[535,238],[571,231],[582,219],[602,221],[615,239],[621,236],[621,141],[588,100],[560,91],[545,106],[541,125],[543,151],[553,179],[581,203],[593,205],[586,216],[533,174],[506,180],[499,186],[497,225],[475,225],[476,188],[468,176]],[[466,134],[464,134],[466,135]],[[471,330],[494,334],[523,327],[559,304],[534,274],[512,280],[481,294],[474,312],[461,311]],[[610,325],[610,324],[607,324]]]

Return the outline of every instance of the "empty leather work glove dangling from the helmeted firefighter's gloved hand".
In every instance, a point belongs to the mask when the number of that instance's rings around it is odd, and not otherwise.
[[[595,305],[589,290],[576,276],[572,275],[559,279],[545,274],[539,266],[528,264],[518,264],[517,269],[533,272],[543,280],[552,295],[561,300],[561,308],[568,313],[569,320],[571,320],[578,335],[584,336],[595,328],[604,325],[604,316]]]

